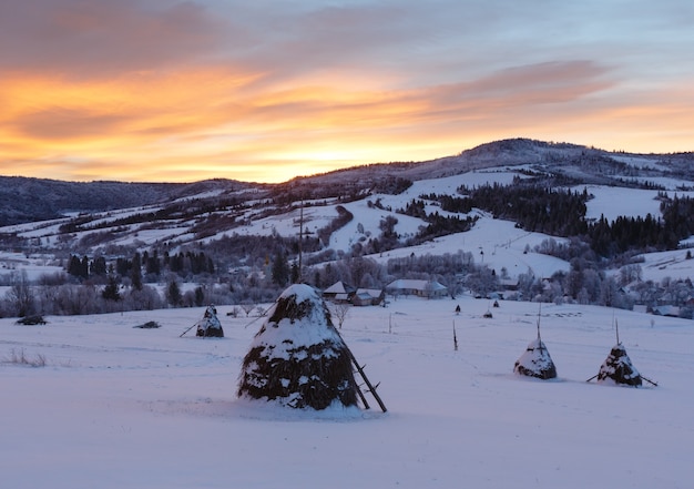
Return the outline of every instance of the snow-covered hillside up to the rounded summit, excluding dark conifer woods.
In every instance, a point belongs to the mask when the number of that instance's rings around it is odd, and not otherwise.
[[[431,162],[356,167],[277,186],[224,181],[191,184],[184,195],[166,202],[0,227],[0,264],[8,273],[28,269],[37,276],[41,265],[50,263],[48,257],[53,252],[93,256],[119,248],[142,252],[165,245],[175,253],[185,246],[234,234],[298,236],[302,222],[304,233],[310,236],[328,226],[338,216],[338,208],[354,217],[330,235],[324,249],[349,254],[355,244],[378,236],[387,217],[397,220],[394,231],[401,242],[415,236],[427,223],[396,212],[412,200],[429,194],[458,195],[457,190],[462,185],[469,189],[493,183],[508,185],[514,179],[543,173],[571,176],[569,189],[585,190],[592,195],[588,202],[589,220],[660,216],[659,192],[692,196],[688,189],[694,189],[694,176],[683,170],[686,167],[683,162],[690,157],[687,154],[630,155],[571,144],[509,140]],[[396,177],[411,179],[412,183],[395,195],[378,191],[384,181]],[[635,181],[650,182],[660,190],[634,187]],[[340,192],[345,189],[356,192],[358,197],[343,198]],[[316,196],[305,198],[308,192]],[[277,203],[283,200],[284,204]],[[427,213],[450,214],[435,201],[425,197],[425,202]],[[511,279],[529,271],[535,276],[550,276],[569,268],[565,262],[534,253],[534,247],[551,236],[524,232],[479,210],[468,215],[478,218],[469,232],[372,257],[384,262],[411,254],[469,252],[476,263],[497,271],[504,268]],[[21,254],[10,253],[18,249]],[[690,261],[681,257],[682,252],[659,254],[657,265],[651,265],[652,261],[646,258],[644,278],[687,278]]]

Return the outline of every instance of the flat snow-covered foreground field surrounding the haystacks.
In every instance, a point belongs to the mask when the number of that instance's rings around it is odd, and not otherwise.
[[[341,334],[388,412],[370,397],[369,410],[304,412],[236,398],[264,319],[229,309],[218,307],[220,339],[180,337],[203,308],[0,319],[2,487],[692,487],[691,320],[543,304],[559,378],[542,381],[512,374],[535,337],[538,304],[351,308]],[[161,327],[133,327],[150,320]],[[615,322],[657,387],[585,381],[614,345]]]

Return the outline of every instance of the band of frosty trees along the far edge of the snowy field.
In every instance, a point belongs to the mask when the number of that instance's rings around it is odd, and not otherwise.
[[[543,244],[550,248],[550,243]],[[74,281],[68,274],[44,275],[30,283],[24,273],[14,273],[10,289],[0,298],[0,315],[28,316],[98,314],[120,310],[143,310],[162,307],[192,307],[205,304],[262,304],[273,302],[286,282],[302,281],[326,288],[337,281],[358,287],[380,288],[396,278],[436,279],[448,286],[452,297],[472,293],[488,297],[503,289],[501,282],[509,278],[503,268],[496,271],[476,264],[470,252],[460,251],[445,255],[410,255],[379,264],[363,256],[345,256],[323,265],[307,267],[300,277],[295,267],[284,268],[286,255],[278,254],[261,269],[221,276],[190,286],[170,274],[159,283],[143,283],[137,287],[132,281],[116,282],[113,276],[103,284],[93,281]],[[279,269],[283,269],[279,272]],[[286,281],[286,282],[285,282]],[[285,282],[285,284],[282,284]],[[626,286],[630,288],[626,288]],[[631,308],[634,303],[655,306],[663,302],[681,306],[681,315],[691,317],[688,299],[694,295],[690,281],[653,283],[641,279],[637,264],[621,268],[616,276],[605,274],[594,262],[582,257],[571,259],[569,272],[552,277],[538,277],[531,272],[520,274],[510,299],[535,302],[574,302],[611,307]]]

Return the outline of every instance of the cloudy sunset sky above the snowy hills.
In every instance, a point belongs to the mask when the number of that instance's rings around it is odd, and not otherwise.
[[[284,182],[532,137],[694,151],[694,3],[1,0],[0,174]]]

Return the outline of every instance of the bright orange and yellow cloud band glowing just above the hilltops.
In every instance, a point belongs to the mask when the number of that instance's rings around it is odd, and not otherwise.
[[[22,162],[25,174],[44,176],[52,163],[54,177],[67,180],[280,182],[438,157],[517,135],[598,145],[586,141],[585,124],[598,113],[618,120],[623,110],[619,100],[605,100],[616,83],[608,75],[586,61],[553,62],[388,91],[382,79],[348,71],[293,84],[222,65],[80,82],[16,73],[2,89],[0,171]],[[630,100],[629,106],[653,114],[652,104],[663,102]],[[637,133],[637,125],[615,129]]]

